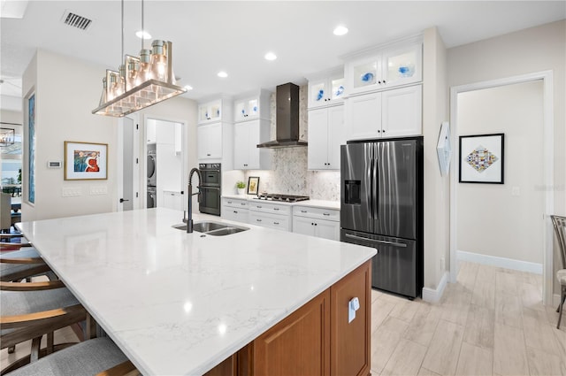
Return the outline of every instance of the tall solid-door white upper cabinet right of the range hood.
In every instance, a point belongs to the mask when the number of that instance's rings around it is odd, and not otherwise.
[[[344,143],[343,105],[309,111],[309,170],[340,170],[340,145]]]

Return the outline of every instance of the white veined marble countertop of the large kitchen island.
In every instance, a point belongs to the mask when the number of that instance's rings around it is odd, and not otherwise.
[[[148,375],[210,371],[348,280],[376,253],[251,225],[226,236],[187,234],[173,228],[181,219],[180,211],[157,208],[24,222],[19,228]],[[230,223],[197,214],[194,219]],[[363,288],[369,296],[369,285]],[[331,294],[340,295],[335,290]],[[368,333],[357,332],[356,341],[368,340]]]

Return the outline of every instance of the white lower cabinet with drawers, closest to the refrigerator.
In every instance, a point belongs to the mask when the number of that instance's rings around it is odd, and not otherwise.
[[[293,232],[340,241],[340,211],[294,206]]]

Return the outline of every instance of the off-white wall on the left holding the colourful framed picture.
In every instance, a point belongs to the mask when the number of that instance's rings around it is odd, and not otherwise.
[[[116,201],[116,119],[91,111],[102,93],[103,69],[79,60],[38,50],[23,75],[24,114],[27,97],[35,93],[35,203],[27,203],[27,142],[24,142],[22,220],[52,219],[112,210]],[[24,118],[27,118],[25,115]],[[24,119],[27,137],[27,119]],[[64,169],[49,169],[48,161],[64,161],[64,142],[108,144],[108,180],[64,180]],[[104,186],[105,195],[90,195]],[[63,197],[63,188],[79,196]]]

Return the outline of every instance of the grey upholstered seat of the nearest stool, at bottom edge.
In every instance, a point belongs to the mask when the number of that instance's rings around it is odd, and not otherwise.
[[[96,375],[115,365],[126,362],[127,357],[108,337],[80,342],[38,361],[27,364],[11,376]]]

